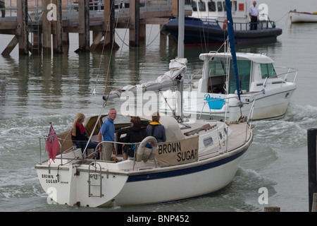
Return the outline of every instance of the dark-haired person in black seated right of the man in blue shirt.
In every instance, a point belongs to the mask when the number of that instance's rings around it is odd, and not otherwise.
[[[124,143],[139,143],[147,136],[145,127],[141,126],[141,119],[139,117],[131,118],[131,127],[127,135],[123,139]],[[123,160],[128,160],[128,156],[134,157],[135,150],[132,145],[123,145]]]

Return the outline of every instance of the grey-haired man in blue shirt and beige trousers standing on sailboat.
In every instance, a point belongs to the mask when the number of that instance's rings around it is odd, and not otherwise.
[[[114,127],[113,121],[114,119],[116,119],[116,115],[117,115],[116,109],[111,108],[108,113],[108,119],[104,121],[98,133],[99,142],[101,142],[101,138],[102,138],[102,141],[111,141],[111,142],[115,141],[114,140],[115,127]],[[113,155],[116,155],[116,149],[114,148],[114,143],[109,143],[109,142],[102,143],[100,159],[110,161],[112,153]]]

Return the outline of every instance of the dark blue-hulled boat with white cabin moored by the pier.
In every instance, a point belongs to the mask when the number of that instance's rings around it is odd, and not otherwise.
[[[274,41],[282,34],[275,22],[268,18],[268,7],[260,4],[259,22],[256,30],[250,30],[249,1],[231,1],[234,18],[235,43]],[[225,1],[192,1],[192,16],[185,17],[186,45],[222,44],[228,37]],[[170,18],[162,32],[178,42],[178,18]]]

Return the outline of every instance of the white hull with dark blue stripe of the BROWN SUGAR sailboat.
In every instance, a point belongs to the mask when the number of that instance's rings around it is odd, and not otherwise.
[[[178,201],[211,194],[230,184],[250,143],[251,139],[232,153],[186,166],[124,173],[118,169],[128,167],[133,161],[100,163],[102,168],[107,167],[101,171],[101,190],[95,186],[89,191],[88,165],[74,164],[59,169],[58,165],[37,165],[36,169],[39,182],[49,194],[48,203],[101,207]],[[91,179],[99,184],[99,177]]]

